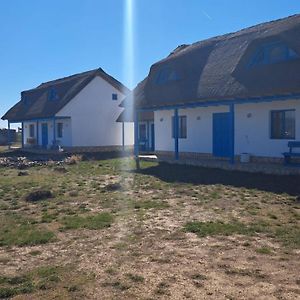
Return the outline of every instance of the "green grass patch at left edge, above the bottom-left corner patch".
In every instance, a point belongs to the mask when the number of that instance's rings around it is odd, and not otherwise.
[[[55,234],[38,227],[33,220],[17,215],[6,215],[0,219],[0,246],[33,246],[54,240]]]

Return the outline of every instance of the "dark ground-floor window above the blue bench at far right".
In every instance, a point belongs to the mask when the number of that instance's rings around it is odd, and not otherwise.
[[[295,110],[271,111],[271,139],[295,139]]]

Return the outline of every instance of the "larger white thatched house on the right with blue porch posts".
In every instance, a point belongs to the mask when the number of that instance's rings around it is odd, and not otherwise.
[[[279,161],[288,142],[300,152],[299,74],[300,15],[179,46],[132,93],[136,151],[151,112],[160,157]]]

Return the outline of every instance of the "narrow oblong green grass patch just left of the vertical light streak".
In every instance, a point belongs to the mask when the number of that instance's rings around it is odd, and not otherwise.
[[[68,216],[62,220],[63,229],[103,229],[110,227],[114,218],[110,213],[104,212],[93,216]]]

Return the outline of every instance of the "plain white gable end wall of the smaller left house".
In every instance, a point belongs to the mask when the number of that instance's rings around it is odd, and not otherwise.
[[[112,100],[112,94],[118,100]],[[122,145],[122,123],[116,119],[122,112],[119,104],[124,95],[100,77],[94,78],[56,116],[72,120],[73,147]],[[133,123],[125,124],[125,145],[133,145]]]

